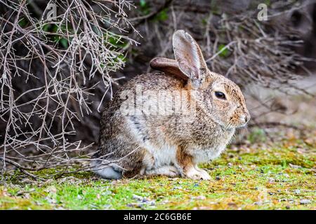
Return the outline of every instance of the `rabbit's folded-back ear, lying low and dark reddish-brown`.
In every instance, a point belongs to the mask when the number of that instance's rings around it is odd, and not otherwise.
[[[187,76],[185,76],[182,71],[180,71],[178,63],[174,59],[155,57],[150,61],[150,66],[152,67],[152,69],[164,71],[165,73],[169,73],[183,80],[188,79]]]

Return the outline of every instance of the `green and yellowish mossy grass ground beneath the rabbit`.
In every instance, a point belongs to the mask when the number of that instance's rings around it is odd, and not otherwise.
[[[81,172],[38,183],[16,171],[0,186],[0,209],[316,209],[315,144],[228,149],[202,167],[211,181]]]

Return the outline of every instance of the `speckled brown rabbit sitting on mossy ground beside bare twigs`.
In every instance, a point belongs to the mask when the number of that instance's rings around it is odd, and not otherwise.
[[[232,80],[209,71],[192,36],[177,30],[172,42],[175,59],[152,59],[150,66],[158,72],[132,78],[105,106],[100,143],[91,163],[101,177],[164,175],[209,180],[210,175],[198,167],[199,163],[217,158],[235,130],[248,123],[250,115],[242,91]],[[160,99],[159,91],[165,91],[169,100]],[[181,91],[187,93],[185,106],[194,110],[172,113],[175,106],[171,106],[171,113],[166,115],[135,110],[139,102],[152,108],[160,103],[178,103],[170,100],[171,93]],[[152,92],[151,97],[138,100],[145,92]],[[122,110],[129,100],[131,107]]]

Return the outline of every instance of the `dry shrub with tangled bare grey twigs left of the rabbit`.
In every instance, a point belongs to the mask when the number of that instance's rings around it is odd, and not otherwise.
[[[112,97],[110,73],[137,43],[126,32],[133,3],[1,0],[0,7],[2,170],[77,164],[88,146],[72,137],[97,135],[79,124]]]

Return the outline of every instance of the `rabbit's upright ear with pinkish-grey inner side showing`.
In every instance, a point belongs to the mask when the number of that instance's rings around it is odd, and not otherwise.
[[[173,34],[173,51],[178,67],[197,85],[205,80],[207,66],[197,42],[184,30]]]

